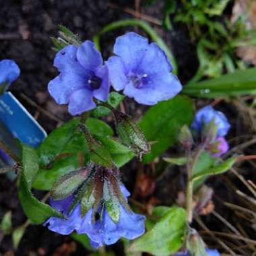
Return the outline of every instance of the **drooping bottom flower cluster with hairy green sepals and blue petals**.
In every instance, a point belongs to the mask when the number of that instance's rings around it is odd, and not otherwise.
[[[61,189],[65,191],[60,193]],[[115,168],[94,166],[67,174],[57,182],[52,195],[66,196],[50,201],[65,218],[51,217],[44,225],[59,234],[87,234],[94,248],[112,245],[121,237],[137,238],[145,232],[145,217],[129,208],[129,191],[119,181]]]

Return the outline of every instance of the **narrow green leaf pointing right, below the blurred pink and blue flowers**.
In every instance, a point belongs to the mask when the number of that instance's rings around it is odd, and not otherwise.
[[[201,179],[203,177],[224,173],[228,171],[235,162],[236,162],[236,157],[229,158],[228,160],[222,162],[221,164],[218,164],[211,168],[205,168],[204,170],[201,170],[200,172],[195,173],[192,179],[194,181],[197,181],[198,179]]]

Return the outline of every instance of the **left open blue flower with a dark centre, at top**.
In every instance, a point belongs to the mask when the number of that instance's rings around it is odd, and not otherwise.
[[[93,98],[106,101],[110,89],[108,70],[102,64],[93,42],[65,46],[55,57],[60,74],[49,82],[49,93],[58,104],[69,104],[71,115],[95,108]]]

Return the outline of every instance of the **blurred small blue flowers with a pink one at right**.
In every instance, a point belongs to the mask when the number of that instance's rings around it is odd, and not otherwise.
[[[191,128],[199,133],[203,130],[203,127],[214,120],[217,126],[217,152],[213,156],[219,157],[228,151],[228,143],[224,136],[228,133],[230,129],[230,123],[226,116],[215,110],[212,106],[205,106],[197,111],[195,119],[191,125]]]

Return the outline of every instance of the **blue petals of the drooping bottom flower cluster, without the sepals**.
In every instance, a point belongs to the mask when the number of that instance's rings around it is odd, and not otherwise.
[[[130,195],[122,184],[120,184],[120,189],[125,197]],[[101,213],[98,220],[94,220],[92,208],[86,213],[86,216],[81,217],[80,203],[77,203],[72,212],[67,214],[72,201],[73,195],[63,200],[51,200],[50,204],[62,212],[66,219],[51,217],[44,223],[44,226],[48,226],[50,230],[59,234],[70,234],[74,230],[79,234],[87,234],[94,248],[112,245],[121,237],[134,239],[145,232],[145,217],[127,210],[121,203],[119,203],[119,222],[115,223],[108,215],[105,206],[98,209],[98,212]]]

